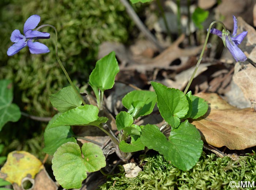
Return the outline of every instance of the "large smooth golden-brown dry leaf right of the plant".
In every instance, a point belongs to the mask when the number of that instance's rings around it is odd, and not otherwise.
[[[242,150],[256,146],[256,112],[251,108],[238,109],[215,93],[196,94],[210,103],[206,115],[193,120],[202,139],[214,147]]]

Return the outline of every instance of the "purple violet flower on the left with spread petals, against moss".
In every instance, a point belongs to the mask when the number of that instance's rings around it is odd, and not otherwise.
[[[11,35],[11,41],[14,42],[14,44],[9,47],[7,50],[8,56],[13,56],[14,54],[18,53],[21,49],[23,49],[26,46],[29,46],[29,51],[32,54],[40,54],[40,53],[48,53],[50,50],[48,47],[42,43],[34,42],[37,39],[48,39],[50,38],[49,33],[42,33],[36,30],[33,30],[35,27],[37,27],[38,23],[40,22],[40,16],[39,15],[32,15],[30,16],[23,28],[22,35],[19,30],[14,30]]]

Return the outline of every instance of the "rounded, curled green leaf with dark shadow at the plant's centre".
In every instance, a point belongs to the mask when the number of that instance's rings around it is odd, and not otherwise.
[[[142,102],[143,102],[143,107],[141,108]],[[134,111],[136,110],[136,106],[140,107],[139,113],[136,114],[135,118],[150,114],[153,111],[156,102],[157,102],[157,96],[155,92],[146,91],[146,90],[131,91],[127,95],[125,95],[124,98],[122,99],[122,103],[124,107],[127,109],[130,109],[132,106],[133,108],[132,111]]]

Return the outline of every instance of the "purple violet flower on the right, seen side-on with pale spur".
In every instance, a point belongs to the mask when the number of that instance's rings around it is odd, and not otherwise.
[[[222,30],[221,32],[215,28],[212,28],[210,30],[210,33],[215,34],[218,37],[222,38],[222,41],[225,47],[227,47],[227,49],[230,51],[230,53],[232,54],[232,56],[235,58],[236,61],[245,61],[247,57],[245,56],[244,52],[242,52],[242,50],[239,49],[237,45],[243,41],[244,37],[247,34],[247,31],[244,31],[241,34],[237,35],[237,19],[234,15],[233,15],[233,20],[234,20],[234,30],[232,35],[230,35],[230,32],[228,30],[227,31]]]

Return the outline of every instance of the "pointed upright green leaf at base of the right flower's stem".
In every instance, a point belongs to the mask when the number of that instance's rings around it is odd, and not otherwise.
[[[180,125],[180,118],[185,117],[189,110],[186,96],[178,89],[151,82],[157,94],[157,107],[160,114],[174,128]]]

